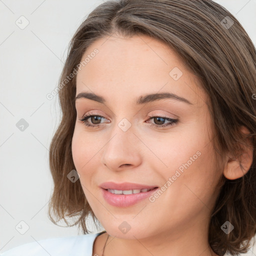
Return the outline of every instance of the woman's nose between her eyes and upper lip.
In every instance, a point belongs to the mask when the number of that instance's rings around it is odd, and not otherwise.
[[[138,166],[141,158],[139,139],[133,130],[123,131],[116,127],[104,146],[101,162],[109,169],[118,171]]]

